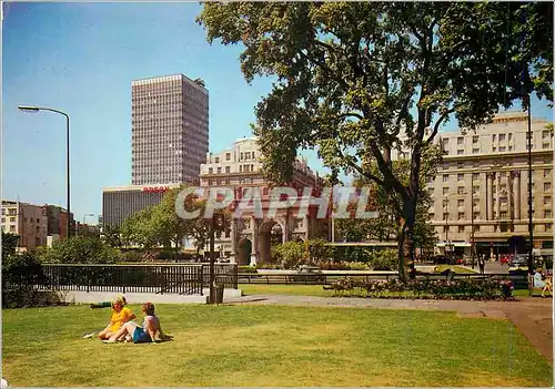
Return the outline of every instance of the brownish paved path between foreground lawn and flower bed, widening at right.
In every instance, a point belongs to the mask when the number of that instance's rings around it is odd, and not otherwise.
[[[552,298],[522,297],[517,301],[467,301],[253,295],[229,298],[225,299],[225,304],[431,309],[457,311],[468,317],[509,319],[537,351],[553,365]]]

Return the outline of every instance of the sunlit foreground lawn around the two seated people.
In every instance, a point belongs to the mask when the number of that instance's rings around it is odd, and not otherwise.
[[[284,306],[158,313],[174,341],[82,339],[102,327],[107,309],[3,310],[2,375],[26,387],[552,385],[548,362],[506,320]]]

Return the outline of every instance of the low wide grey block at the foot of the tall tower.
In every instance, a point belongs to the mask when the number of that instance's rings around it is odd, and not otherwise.
[[[121,226],[134,213],[149,205],[160,204],[164,193],[176,187],[180,187],[180,184],[127,185],[103,188],[103,227]]]

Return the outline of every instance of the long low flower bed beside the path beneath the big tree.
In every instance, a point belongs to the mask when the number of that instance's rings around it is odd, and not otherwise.
[[[376,280],[345,278],[331,284],[334,296],[372,298],[425,298],[457,300],[511,300],[513,283],[496,279]]]

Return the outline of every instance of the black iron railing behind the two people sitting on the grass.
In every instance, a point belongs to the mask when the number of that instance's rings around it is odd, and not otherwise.
[[[200,264],[65,265],[43,264],[39,288],[50,290],[172,293],[202,295]]]

